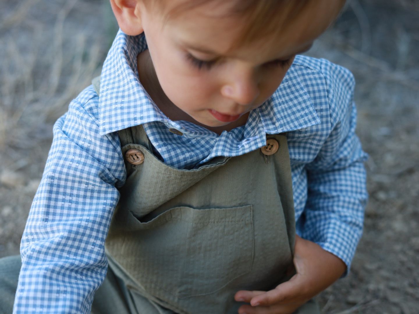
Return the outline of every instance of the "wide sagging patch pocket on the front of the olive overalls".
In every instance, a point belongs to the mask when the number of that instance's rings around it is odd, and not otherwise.
[[[133,275],[155,296],[163,291],[179,299],[214,293],[252,269],[251,205],[180,206],[147,222],[129,212],[128,220],[128,229],[137,234],[136,244],[127,243],[129,236],[124,241],[124,247],[136,250]]]

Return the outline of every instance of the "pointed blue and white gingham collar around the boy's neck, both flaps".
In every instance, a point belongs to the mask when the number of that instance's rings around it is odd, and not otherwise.
[[[119,30],[101,73],[99,123],[101,134],[160,121],[185,136],[218,135],[187,121],[171,121],[155,105],[138,79],[137,55],[147,49],[143,34],[127,36]],[[298,56],[296,57],[298,58]],[[293,66],[275,93],[250,112],[243,142],[266,144],[266,134],[279,134],[319,124],[308,93]],[[246,144],[244,144],[246,145]]]

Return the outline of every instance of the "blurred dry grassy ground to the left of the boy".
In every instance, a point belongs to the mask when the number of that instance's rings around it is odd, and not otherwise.
[[[54,121],[100,73],[112,36],[106,6],[0,3],[0,256],[18,252]]]

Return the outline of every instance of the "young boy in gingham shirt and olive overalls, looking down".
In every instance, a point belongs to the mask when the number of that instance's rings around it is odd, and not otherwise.
[[[343,4],[111,0],[121,31],[54,126],[14,313],[318,313],[362,232],[365,153],[350,72],[295,55]]]

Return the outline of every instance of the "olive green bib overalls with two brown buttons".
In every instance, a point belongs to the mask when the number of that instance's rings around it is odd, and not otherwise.
[[[142,126],[119,136],[127,181],[105,251],[137,294],[137,311],[233,314],[238,290],[266,291],[290,278],[295,219],[285,135],[193,170],[155,157]],[[303,312],[318,313],[317,305]]]

